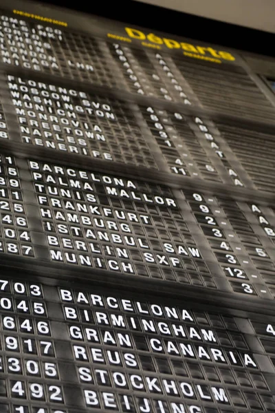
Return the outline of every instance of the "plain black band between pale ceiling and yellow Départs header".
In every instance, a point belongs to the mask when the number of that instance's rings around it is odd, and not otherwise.
[[[177,34],[178,36],[190,37],[209,43],[218,43],[219,45],[247,52],[275,56],[275,34],[151,6],[140,3],[140,1],[64,2],[61,0],[45,0],[43,2],[39,1],[39,3],[71,8],[80,12],[107,17],[108,19],[144,26],[152,30]]]

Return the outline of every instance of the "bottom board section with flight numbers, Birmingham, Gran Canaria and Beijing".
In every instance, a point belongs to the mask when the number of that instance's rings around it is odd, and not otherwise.
[[[2,277],[1,412],[274,412],[271,325],[165,301]]]

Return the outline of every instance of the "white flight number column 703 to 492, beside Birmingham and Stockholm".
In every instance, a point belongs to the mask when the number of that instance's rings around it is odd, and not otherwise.
[[[67,413],[43,287],[0,279],[0,410]]]

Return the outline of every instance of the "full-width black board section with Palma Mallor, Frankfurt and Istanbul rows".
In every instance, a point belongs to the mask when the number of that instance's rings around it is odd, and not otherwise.
[[[172,288],[275,298],[275,215],[263,202],[57,162],[2,159],[19,165],[3,165],[3,173],[18,176],[1,184],[3,253],[87,274],[100,270],[103,279],[111,271]]]

